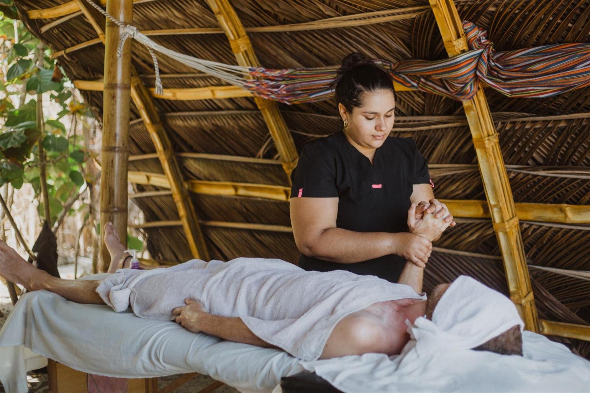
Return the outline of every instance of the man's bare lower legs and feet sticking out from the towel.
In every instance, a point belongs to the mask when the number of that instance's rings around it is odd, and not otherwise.
[[[122,262],[123,244],[114,231],[113,225],[105,225],[104,241],[111,254],[109,272],[119,268]],[[12,283],[21,284],[29,291],[40,289],[56,293],[67,300],[83,304],[104,304],[96,288],[101,281],[96,280],[63,280],[53,277],[43,270],[32,266],[18,255],[4,241],[0,240],[0,276]]]

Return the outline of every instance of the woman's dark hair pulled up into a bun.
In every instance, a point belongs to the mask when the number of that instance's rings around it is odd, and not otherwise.
[[[362,94],[366,91],[391,90],[395,96],[391,76],[360,53],[351,53],[342,60],[336,71],[336,103],[342,103],[348,112],[362,106]]]

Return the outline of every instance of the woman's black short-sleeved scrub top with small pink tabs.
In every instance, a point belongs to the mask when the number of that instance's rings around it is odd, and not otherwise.
[[[371,161],[343,132],[303,147],[291,173],[291,198],[338,197],[336,227],[355,232],[407,232],[412,185],[431,184],[414,140],[387,137]],[[348,270],[396,283],[405,258],[389,254],[358,263],[335,263],[301,254],[305,270]]]

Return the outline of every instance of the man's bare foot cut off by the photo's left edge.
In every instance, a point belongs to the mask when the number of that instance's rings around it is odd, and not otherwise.
[[[28,291],[42,289],[50,274],[32,266],[17,251],[0,240],[0,276],[11,283],[21,284]]]

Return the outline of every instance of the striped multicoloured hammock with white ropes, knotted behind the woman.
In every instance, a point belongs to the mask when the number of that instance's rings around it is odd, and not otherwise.
[[[121,28],[117,55],[121,55],[127,38],[148,48],[156,71],[156,94],[162,94],[162,81],[154,51],[264,99],[299,104],[325,100],[334,93],[332,82],[338,66],[273,70],[204,60],[163,47],[136,27],[107,14],[93,0],[86,1]],[[373,61],[405,87],[461,101],[476,94],[480,81],[509,97],[549,97],[590,85],[590,44],[496,52],[486,30],[468,21],[463,22],[463,28],[470,48],[466,53],[437,61]]]

